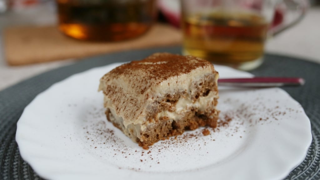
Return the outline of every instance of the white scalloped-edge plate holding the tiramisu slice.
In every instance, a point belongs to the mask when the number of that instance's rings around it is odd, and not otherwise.
[[[21,156],[48,179],[281,179],[302,162],[310,122],[279,88],[220,87],[220,119],[143,150],[106,121],[99,78],[119,64],[73,75],[39,94],[18,121]],[[221,78],[251,77],[216,66]]]

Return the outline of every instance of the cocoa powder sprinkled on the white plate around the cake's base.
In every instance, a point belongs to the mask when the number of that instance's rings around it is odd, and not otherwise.
[[[118,129],[114,129],[111,123],[105,121],[103,109],[96,109],[89,112],[89,119],[92,118],[92,120],[83,127],[83,141],[88,144],[86,148],[89,151],[104,152],[105,158],[112,159],[112,163],[115,163],[116,166],[118,166],[117,162],[124,160],[137,162],[132,167],[119,165],[119,168],[148,171],[148,168],[157,169],[165,164],[167,160],[164,159],[164,155],[167,153],[176,153],[178,158],[187,156],[188,153],[198,154],[204,151],[205,154],[211,156],[210,151],[205,149],[208,144],[221,142],[225,138],[237,138],[239,141],[245,141],[255,126],[264,126],[273,122],[278,124],[284,116],[300,113],[300,110],[296,109],[266,106],[265,103],[262,103],[265,101],[268,100],[257,98],[256,102],[242,103],[238,99],[226,98],[220,102],[223,106],[220,106],[222,108],[216,128],[204,127],[194,131],[186,131],[182,135],[161,140],[143,149],[137,144],[128,145],[126,143],[129,141],[126,139],[128,137]],[[236,108],[233,108],[235,104]],[[99,155],[99,158],[104,156],[100,157]]]

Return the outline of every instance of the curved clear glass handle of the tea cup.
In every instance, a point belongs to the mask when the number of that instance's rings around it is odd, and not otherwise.
[[[271,35],[276,36],[280,33],[282,33],[284,30],[291,28],[292,26],[296,25],[298,22],[300,22],[303,17],[306,15],[307,9],[308,9],[308,2],[307,0],[284,0],[284,4],[286,5],[286,8],[288,10],[297,10],[300,11],[299,16],[292,20],[287,25],[284,25],[282,27],[275,27],[271,29]],[[278,25],[281,26],[281,25]]]

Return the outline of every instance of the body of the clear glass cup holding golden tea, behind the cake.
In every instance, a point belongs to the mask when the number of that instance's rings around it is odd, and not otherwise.
[[[279,2],[181,0],[182,53],[241,70],[258,67]]]

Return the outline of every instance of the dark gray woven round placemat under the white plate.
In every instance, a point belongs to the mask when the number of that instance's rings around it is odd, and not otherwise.
[[[142,59],[155,52],[180,53],[180,47],[154,48],[127,51],[86,58],[76,64],[45,72],[22,81],[0,92],[0,180],[41,179],[33,169],[22,160],[15,141],[16,123],[23,109],[40,92],[53,83],[68,76],[93,67],[113,62]],[[306,84],[301,87],[283,88],[297,100],[310,118],[312,144],[306,159],[295,168],[286,179],[320,179],[320,65],[300,59],[267,54],[263,65],[251,71],[257,76],[303,77]]]

